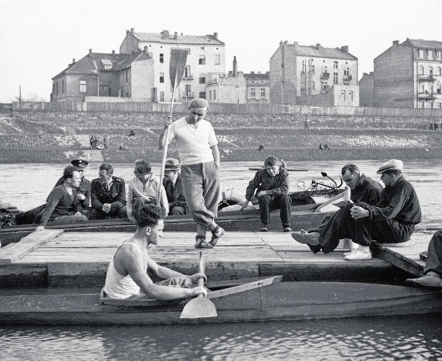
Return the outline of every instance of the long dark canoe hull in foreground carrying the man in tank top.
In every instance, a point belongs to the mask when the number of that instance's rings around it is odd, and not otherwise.
[[[98,294],[0,297],[0,324],[186,324],[442,313],[442,293],[404,286],[283,282],[212,300],[217,318],[180,320],[185,302],[109,306]]]

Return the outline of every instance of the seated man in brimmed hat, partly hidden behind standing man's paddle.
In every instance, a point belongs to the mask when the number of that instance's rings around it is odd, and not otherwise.
[[[163,186],[169,202],[169,215],[185,215],[189,213],[186,197],[184,197],[184,192],[182,191],[180,161],[178,159],[166,159]]]

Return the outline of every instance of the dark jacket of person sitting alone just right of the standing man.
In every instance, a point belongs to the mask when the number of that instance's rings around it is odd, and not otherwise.
[[[267,170],[260,169],[256,172],[255,177],[249,182],[246,190],[246,198],[250,200],[253,195],[258,194],[260,191],[273,190],[271,195],[283,195],[289,193],[289,182],[287,180],[289,172],[282,167],[279,167],[279,173],[274,177],[271,177]]]

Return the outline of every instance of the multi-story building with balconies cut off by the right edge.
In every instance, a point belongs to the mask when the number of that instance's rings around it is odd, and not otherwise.
[[[395,40],[378,55],[374,106],[442,108],[442,42]]]

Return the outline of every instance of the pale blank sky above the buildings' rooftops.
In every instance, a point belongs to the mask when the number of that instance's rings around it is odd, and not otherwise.
[[[119,51],[126,30],[184,35],[218,32],[226,70],[269,70],[279,42],[348,45],[359,74],[393,40],[442,41],[442,1],[427,0],[0,0],[0,101],[49,100],[51,78],[73,58]]]

